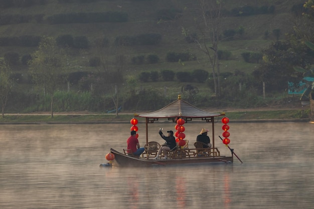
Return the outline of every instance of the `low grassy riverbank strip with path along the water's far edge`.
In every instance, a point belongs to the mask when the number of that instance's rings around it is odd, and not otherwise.
[[[207,111],[225,113],[230,122],[309,122],[309,107],[267,107]],[[134,113],[130,112],[120,112],[118,117],[115,114],[91,112],[56,112],[54,117],[51,117],[48,112],[15,113],[5,114],[4,117],[0,116],[0,124],[129,123],[133,117]],[[138,118],[138,121],[144,122],[144,119]]]

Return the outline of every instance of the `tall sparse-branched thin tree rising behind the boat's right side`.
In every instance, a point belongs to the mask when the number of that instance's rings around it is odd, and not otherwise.
[[[195,26],[201,33],[201,37],[195,39],[194,43],[210,61],[217,96],[220,96],[218,44],[221,36],[222,3],[222,0],[198,0],[199,11],[194,14],[197,16],[194,19]],[[190,35],[189,29],[182,28],[182,33],[186,37]]]

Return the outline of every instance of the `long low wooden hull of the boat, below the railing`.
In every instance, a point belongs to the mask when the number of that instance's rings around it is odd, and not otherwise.
[[[115,158],[112,160],[114,167],[150,167],[160,165],[197,165],[197,164],[217,164],[217,163],[232,163],[233,156],[209,156],[209,157],[195,157],[183,159],[167,159],[167,160],[152,160],[146,158],[136,158],[127,156],[114,149],[110,149]]]

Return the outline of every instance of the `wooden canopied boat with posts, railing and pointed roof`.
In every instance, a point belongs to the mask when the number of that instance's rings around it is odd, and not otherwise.
[[[136,114],[134,117],[145,118],[146,123],[146,145],[148,142],[148,124],[153,123],[156,120],[161,118],[168,119],[173,122],[177,122],[179,118],[184,119],[186,122],[192,120],[201,120],[209,122],[212,124],[212,136],[211,148],[200,148],[196,146],[195,148],[186,148],[180,147],[172,152],[168,156],[168,159],[158,159],[154,160],[153,157],[156,156],[158,150],[154,150],[154,153],[148,152],[145,149],[144,153],[139,157],[129,156],[127,152],[119,152],[113,148],[110,149],[110,153],[114,155],[114,159],[110,160],[108,164],[101,164],[103,166],[112,165],[112,166],[122,166],[122,167],[149,167],[156,165],[183,165],[183,164],[215,164],[215,163],[233,163],[233,155],[235,155],[233,149],[228,145],[228,148],[231,151],[230,156],[220,155],[220,151],[215,146],[215,132],[214,132],[214,118],[215,117],[224,117],[224,113],[212,113],[205,110],[201,110],[188,102],[181,99],[181,96],[178,96],[178,99],[166,107],[151,113],[146,114]],[[223,140],[220,136],[219,138]],[[237,155],[235,155],[237,157]],[[238,158],[238,157],[237,157]],[[239,158],[238,158],[239,159]],[[240,160],[240,159],[239,159]],[[240,160],[241,161],[241,160]],[[241,161],[242,163],[242,161]]]

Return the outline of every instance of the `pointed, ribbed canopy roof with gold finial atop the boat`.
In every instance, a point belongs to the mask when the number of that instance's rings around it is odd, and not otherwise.
[[[169,120],[176,120],[177,118],[184,118],[185,120],[192,120],[192,118],[212,118],[216,116],[222,116],[221,113],[212,113],[205,110],[201,110],[190,103],[181,99],[181,95],[178,96],[178,99],[164,108],[146,114],[139,114],[136,117],[143,118],[168,118]]]

